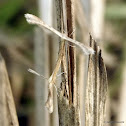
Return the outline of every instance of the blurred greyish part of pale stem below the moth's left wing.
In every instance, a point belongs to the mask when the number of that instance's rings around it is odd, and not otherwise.
[[[34,43],[34,57],[35,69],[38,73],[48,77],[48,42],[46,41],[44,31],[39,28],[35,31]],[[45,55],[46,54],[46,55]],[[38,76],[35,77],[35,125],[49,126],[49,115],[45,108],[45,101],[47,98],[48,82]]]

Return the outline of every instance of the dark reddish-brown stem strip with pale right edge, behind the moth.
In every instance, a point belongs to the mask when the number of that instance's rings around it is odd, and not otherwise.
[[[75,38],[74,31],[75,21],[74,21],[74,4],[73,0],[66,0],[66,10],[67,10],[67,35],[70,38]],[[71,34],[72,33],[72,34]],[[72,44],[71,44],[72,45]],[[68,85],[69,85],[69,102],[70,105],[73,103],[76,106],[76,54],[75,48],[68,45]]]

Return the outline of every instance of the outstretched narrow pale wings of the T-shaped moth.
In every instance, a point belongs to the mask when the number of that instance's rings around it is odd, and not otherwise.
[[[94,54],[94,50],[91,47],[85,46],[81,42],[78,42],[78,41],[76,41],[74,39],[71,39],[68,36],[66,36],[65,34],[62,34],[62,33],[58,32],[54,28],[52,28],[52,27],[48,26],[47,24],[45,24],[38,17],[36,17],[36,16],[34,16],[32,14],[25,14],[25,18],[26,18],[26,20],[27,20],[27,22],[29,24],[36,24],[36,25],[39,25],[40,27],[45,27],[46,29],[52,31],[53,33],[55,33],[56,35],[58,35],[62,39],[66,40],[66,41],[69,41],[69,42],[75,44],[76,46],[80,47],[82,49],[82,51],[84,52],[84,54],[86,54],[86,55]]]

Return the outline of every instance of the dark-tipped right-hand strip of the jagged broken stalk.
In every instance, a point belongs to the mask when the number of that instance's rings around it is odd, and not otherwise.
[[[103,126],[105,122],[106,115],[106,100],[107,100],[107,90],[108,90],[108,81],[107,81],[107,72],[106,67],[101,57],[101,50],[99,51],[99,78],[100,78],[100,87],[99,87],[99,126]]]

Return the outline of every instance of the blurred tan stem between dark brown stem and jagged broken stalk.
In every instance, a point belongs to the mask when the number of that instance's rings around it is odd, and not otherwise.
[[[77,23],[79,25],[79,39],[81,38],[81,41],[84,44],[89,45],[89,28],[88,28],[88,17],[89,15],[89,1],[83,0],[84,4],[82,4],[81,0],[75,1],[75,17],[77,20]],[[83,6],[85,7],[85,12],[83,10]],[[80,18],[81,17],[81,18]],[[78,62],[77,62],[77,83],[79,84],[79,96],[80,96],[80,120],[81,125],[85,125],[85,94],[86,94],[86,84],[87,84],[87,73],[88,73],[88,56],[85,56],[81,53],[79,53],[78,56]]]

